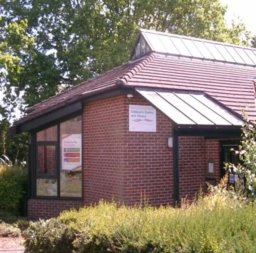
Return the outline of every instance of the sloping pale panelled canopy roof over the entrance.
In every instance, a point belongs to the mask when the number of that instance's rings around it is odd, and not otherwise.
[[[243,121],[204,93],[136,88],[178,126],[241,127]]]

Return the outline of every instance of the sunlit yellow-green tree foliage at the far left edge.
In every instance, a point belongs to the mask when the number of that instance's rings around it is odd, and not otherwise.
[[[34,43],[33,38],[25,35],[26,28],[27,20],[6,23],[0,16],[0,87],[5,95],[0,113],[3,117],[7,117],[13,110],[9,105],[17,104],[14,93],[19,91],[25,60]]]

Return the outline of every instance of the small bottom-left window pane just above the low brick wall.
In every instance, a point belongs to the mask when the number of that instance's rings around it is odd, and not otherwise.
[[[57,196],[57,179],[37,179],[37,196]]]

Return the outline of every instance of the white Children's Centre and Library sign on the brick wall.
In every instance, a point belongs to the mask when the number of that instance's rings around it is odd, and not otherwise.
[[[156,132],[156,111],[149,105],[129,105],[130,132]]]

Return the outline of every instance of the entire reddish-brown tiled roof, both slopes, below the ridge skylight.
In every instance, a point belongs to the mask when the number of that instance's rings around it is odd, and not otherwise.
[[[255,76],[256,68],[250,66],[151,53],[144,59],[114,68],[34,105],[29,113],[17,123],[37,117],[42,111],[54,110],[61,103],[82,98],[83,95],[95,91],[104,91],[105,88],[120,83],[125,86],[205,92],[239,114],[241,114],[241,109],[248,106],[248,116],[256,120],[252,81]]]

